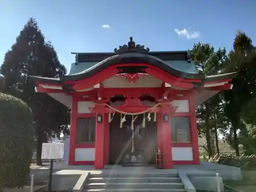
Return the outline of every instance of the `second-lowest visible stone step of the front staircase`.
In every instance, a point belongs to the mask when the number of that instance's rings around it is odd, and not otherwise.
[[[88,183],[86,189],[129,189],[129,188],[154,188],[177,189],[184,188],[182,183]]]

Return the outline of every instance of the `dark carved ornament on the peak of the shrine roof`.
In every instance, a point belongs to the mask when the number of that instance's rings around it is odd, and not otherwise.
[[[130,41],[127,45],[119,46],[119,49],[115,48],[114,52],[116,54],[123,54],[123,53],[144,53],[147,54],[150,52],[150,48],[144,48],[145,46],[141,46],[139,44],[135,44],[133,41],[133,37],[130,37]]]

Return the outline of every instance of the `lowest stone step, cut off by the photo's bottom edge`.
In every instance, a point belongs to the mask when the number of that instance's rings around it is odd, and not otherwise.
[[[83,189],[82,192],[186,192],[183,188],[160,189],[160,188],[125,188],[125,189]]]

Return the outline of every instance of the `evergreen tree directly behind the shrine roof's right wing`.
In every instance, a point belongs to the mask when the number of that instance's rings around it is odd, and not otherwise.
[[[200,73],[207,75],[216,75],[222,73],[224,62],[226,59],[226,50],[218,49],[215,51],[214,47],[210,47],[209,44],[195,44],[192,50],[193,60],[196,63],[196,68]],[[200,133],[205,135],[207,143],[208,156],[214,155],[215,149],[211,147],[210,142],[210,130],[215,129],[216,138],[216,150],[219,153],[218,146],[218,126],[220,122],[217,117],[220,117],[221,113],[220,94],[215,95],[209,100],[202,103],[197,108],[198,114],[198,127]]]

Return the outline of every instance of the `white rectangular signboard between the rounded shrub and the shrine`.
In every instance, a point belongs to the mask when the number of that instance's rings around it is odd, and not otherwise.
[[[42,143],[41,159],[63,159],[64,143]]]

